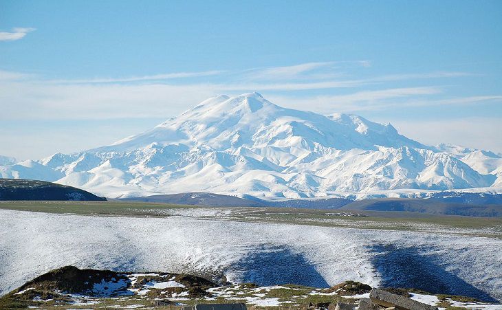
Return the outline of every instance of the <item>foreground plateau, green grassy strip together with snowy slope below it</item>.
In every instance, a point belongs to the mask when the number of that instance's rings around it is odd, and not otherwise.
[[[260,287],[323,289],[354,280],[502,300],[501,219],[336,211],[0,203],[0,291],[75,265]]]

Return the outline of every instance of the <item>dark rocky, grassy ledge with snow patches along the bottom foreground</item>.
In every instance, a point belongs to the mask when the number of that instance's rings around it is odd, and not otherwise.
[[[216,309],[216,304],[239,303],[239,309],[502,309],[502,305],[472,298],[414,289],[374,289],[353,281],[327,289],[259,287],[252,283],[215,283],[189,274],[113,272],[73,266],[54,269],[2,296],[0,309],[181,309],[207,304]]]

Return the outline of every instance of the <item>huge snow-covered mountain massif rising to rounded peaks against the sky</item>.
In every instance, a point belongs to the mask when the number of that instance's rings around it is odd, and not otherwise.
[[[107,197],[489,188],[502,186],[501,173],[502,159],[491,152],[426,146],[391,124],[285,109],[259,93],[210,98],[109,146],[0,166],[1,177],[57,181]]]

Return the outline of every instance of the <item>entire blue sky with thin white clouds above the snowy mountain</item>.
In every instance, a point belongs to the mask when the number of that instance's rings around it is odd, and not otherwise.
[[[0,0],[0,154],[155,126],[218,93],[502,152],[502,1]]]

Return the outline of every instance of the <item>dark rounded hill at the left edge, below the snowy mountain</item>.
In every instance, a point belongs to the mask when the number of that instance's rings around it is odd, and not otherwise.
[[[107,199],[72,186],[46,181],[0,179],[0,201],[5,200],[105,201]]]

